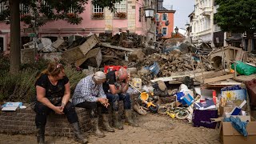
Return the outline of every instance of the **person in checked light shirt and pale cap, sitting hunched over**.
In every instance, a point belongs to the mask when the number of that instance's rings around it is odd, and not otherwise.
[[[98,128],[98,107],[102,108],[103,128],[108,132],[114,132],[108,121],[108,99],[102,88],[102,83],[106,81],[106,74],[98,71],[95,74],[82,78],[74,90],[72,102],[74,106],[90,110],[91,122],[94,126],[94,134],[99,137],[105,137]]]

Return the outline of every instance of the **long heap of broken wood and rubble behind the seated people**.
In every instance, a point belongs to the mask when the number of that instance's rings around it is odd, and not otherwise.
[[[63,59],[82,69],[106,65],[135,67],[138,73],[133,74],[134,77],[142,78],[145,84],[152,78],[171,77],[174,73],[225,69],[238,60],[245,62],[248,59],[248,62],[256,63],[254,58],[247,58],[243,50],[232,46],[213,50],[205,43],[191,46],[187,42],[177,44],[173,40],[157,44],[150,42],[146,46],[142,43],[142,36],[129,34],[129,31],[111,36],[105,33],[99,34],[99,37],[95,34],[87,37],[72,35],[67,39],[58,38],[56,42],[38,38],[36,46],[43,58]],[[22,62],[34,62],[34,53],[34,43],[25,44]],[[223,58],[226,63],[222,63]],[[158,66],[155,74],[149,70],[152,65]]]

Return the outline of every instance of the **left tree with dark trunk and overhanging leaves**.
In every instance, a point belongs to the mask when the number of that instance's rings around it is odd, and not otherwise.
[[[93,0],[94,5],[108,7],[114,10],[114,3],[122,0]],[[70,24],[79,24],[82,22],[81,14],[86,7],[88,0],[0,0],[6,2],[6,10],[0,13],[0,21],[6,20],[10,23],[10,73],[17,73],[20,69],[20,21],[25,22],[28,26],[33,26],[33,20],[41,19],[41,22],[35,22],[38,26],[46,23],[46,19],[58,20],[65,19]],[[33,14],[23,14],[19,6],[27,6],[27,10],[32,10]],[[70,14],[72,9],[72,14]],[[31,23],[32,22],[32,23]]]

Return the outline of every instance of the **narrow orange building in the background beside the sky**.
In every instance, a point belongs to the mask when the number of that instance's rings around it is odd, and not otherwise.
[[[157,22],[156,34],[158,38],[171,38],[174,32],[174,13],[173,6],[169,9],[162,6],[163,0],[158,0],[158,12],[155,16]]]

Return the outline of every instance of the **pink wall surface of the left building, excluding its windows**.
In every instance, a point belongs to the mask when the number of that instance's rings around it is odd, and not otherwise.
[[[144,0],[134,0],[135,4],[135,33],[145,35],[145,22],[142,18],[142,22],[139,22],[139,8],[144,5]],[[128,2],[126,1],[128,4]],[[106,20],[91,18],[93,13],[93,5],[91,1],[86,4],[86,10],[81,14],[83,20],[78,25],[72,25],[64,20],[46,22],[46,25],[40,26],[38,30],[38,37],[44,36],[69,36],[72,34],[82,34],[86,35],[90,32],[94,34],[102,33],[106,31]],[[129,16],[128,6],[127,6],[127,17]],[[21,36],[27,37],[29,34],[34,33],[33,30],[25,30],[27,26],[21,23]],[[118,28],[122,28],[122,31],[128,30],[128,18],[125,19],[115,19],[112,20],[112,34],[118,33]],[[10,43],[10,25],[6,25],[6,22],[0,22],[0,37],[4,38],[4,50],[6,50],[8,43]]]

